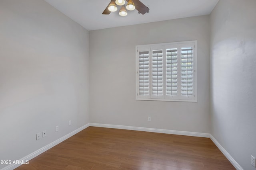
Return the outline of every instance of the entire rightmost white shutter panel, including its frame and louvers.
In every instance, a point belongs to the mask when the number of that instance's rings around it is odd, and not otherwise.
[[[194,43],[180,45],[180,98],[194,98]]]

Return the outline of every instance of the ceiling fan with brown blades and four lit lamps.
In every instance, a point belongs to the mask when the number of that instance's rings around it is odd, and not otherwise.
[[[126,1],[128,2],[126,5],[127,10],[132,11],[132,10],[136,9],[136,10],[138,10],[139,14],[143,14],[143,15],[149,11],[149,8],[147,6],[145,6],[142,2],[140,2],[140,0],[126,0]],[[111,12],[117,11],[116,5],[122,6],[119,11],[119,15],[126,16],[127,11],[124,8],[124,6],[125,6],[124,0],[110,0],[110,3],[106,7],[106,9],[102,12],[102,14],[108,15]]]

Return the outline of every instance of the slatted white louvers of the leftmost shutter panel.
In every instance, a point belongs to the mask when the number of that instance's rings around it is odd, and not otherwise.
[[[139,94],[149,95],[149,51],[139,52]]]

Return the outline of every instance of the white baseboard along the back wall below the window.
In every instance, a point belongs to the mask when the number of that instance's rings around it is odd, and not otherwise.
[[[123,125],[108,125],[108,124],[100,124],[100,123],[89,123],[89,126],[210,138],[209,133],[174,131],[174,130],[166,130],[166,129],[154,129],[154,128],[146,128],[146,127],[123,126]]]

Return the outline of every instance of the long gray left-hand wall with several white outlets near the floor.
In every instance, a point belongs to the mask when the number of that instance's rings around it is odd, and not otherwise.
[[[0,160],[18,160],[89,122],[88,61],[86,29],[43,0],[0,0]]]

